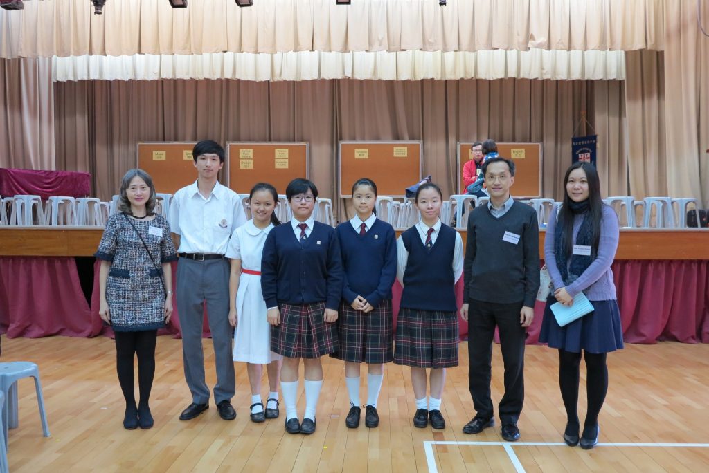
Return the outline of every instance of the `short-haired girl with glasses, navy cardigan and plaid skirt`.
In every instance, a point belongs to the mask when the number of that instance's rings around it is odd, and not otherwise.
[[[272,325],[271,349],[284,356],[281,391],[286,432],[311,434],[323,387],[320,357],[337,351],[337,307],[342,295],[342,262],[335,229],[316,222],[318,188],[297,178],[286,188],[290,224],[275,227],[264,244],[261,287]],[[305,365],[306,411],[298,421],[298,367]]]

